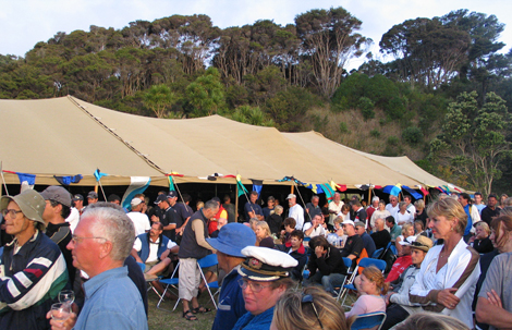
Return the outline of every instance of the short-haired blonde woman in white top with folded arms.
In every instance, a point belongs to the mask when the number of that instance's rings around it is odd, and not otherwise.
[[[453,316],[473,329],[472,302],[480,274],[479,255],[463,240],[467,215],[453,198],[439,199],[428,207],[428,227],[436,245],[422,262],[410,290],[410,301],[424,310]]]

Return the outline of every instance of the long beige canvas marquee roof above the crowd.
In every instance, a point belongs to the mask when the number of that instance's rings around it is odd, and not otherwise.
[[[101,179],[105,185],[150,176],[151,184],[164,186],[164,174],[171,171],[184,175],[175,178],[176,182],[210,182],[204,178],[220,173],[264,184],[290,184],[277,180],[292,175],[305,183],[332,180],[348,187],[429,184],[419,178],[423,170],[407,158],[393,164],[394,158],[380,161],[315,132],[280,133],[219,115],[147,118],[73,97],[0,100],[0,113],[9,123],[0,130],[2,140],[9,142],[0,146],[3,170],[36,174],[39,184],[56,184],[53,174],[82,174],[80,184],[93,185],[96,169],[109,174]],[[5,180],[19,183],[16,175],[5,174]]]

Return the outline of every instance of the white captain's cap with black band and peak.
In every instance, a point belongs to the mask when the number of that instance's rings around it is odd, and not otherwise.
[[[297,260],[289,254],[261,246],[247,246],[242,249],[247,257],[239,268],[243,278],[253,281],[269,282],[289,278],[291,270],[297,266]]]

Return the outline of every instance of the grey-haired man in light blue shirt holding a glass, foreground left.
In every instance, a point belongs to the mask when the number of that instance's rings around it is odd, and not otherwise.
[[[121,207],[110,203],[87,207],[68,247],[73,265],[89,280],[83,284],[84,307],[77,319],[72,314],[65,321],[66,329],[147,329],[141,293],[123,266],[134,240],[132,220]]]

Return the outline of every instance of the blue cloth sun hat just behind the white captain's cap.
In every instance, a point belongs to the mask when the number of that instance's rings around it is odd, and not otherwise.
[[[256,244],[256,235],[242,223],[228,223],[220,229],[217,239],[206,239],[206,242],[225,255],[245,258],[242,249]]]

